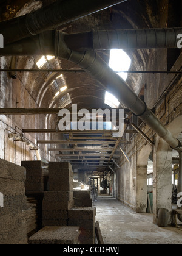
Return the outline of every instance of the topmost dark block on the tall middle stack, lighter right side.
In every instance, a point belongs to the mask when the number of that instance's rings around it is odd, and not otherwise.
[[[49,162],[49,190],[73,191],[73,171],[69,162]]]

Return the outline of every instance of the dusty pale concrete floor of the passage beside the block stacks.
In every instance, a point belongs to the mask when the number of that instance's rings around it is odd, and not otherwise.
[[[182,225],[161,228],[152,214],[135,213],[120,201],[99,196],[94,203],[104,244],[181,244]]]

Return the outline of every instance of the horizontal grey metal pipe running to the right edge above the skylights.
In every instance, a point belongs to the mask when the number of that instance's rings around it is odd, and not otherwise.
[[[128,29],[82,32],[66,35],[67,46],[74,51],[82,49],[151,49],[177,48],[177,35],[182,28]]]

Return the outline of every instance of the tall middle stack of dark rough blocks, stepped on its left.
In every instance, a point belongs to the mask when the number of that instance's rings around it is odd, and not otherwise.
[[[73,208],[73,171],[68,162],[49,162],[49,189],[42,204],[42,226],[67,226]]]

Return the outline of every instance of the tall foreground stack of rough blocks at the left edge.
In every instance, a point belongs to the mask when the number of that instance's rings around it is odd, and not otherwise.
[[[25,168],[0,160],[0,192],[4,205],[0,207],[0,244],[26,244],[27,227],[22,214],[27,210]]]

